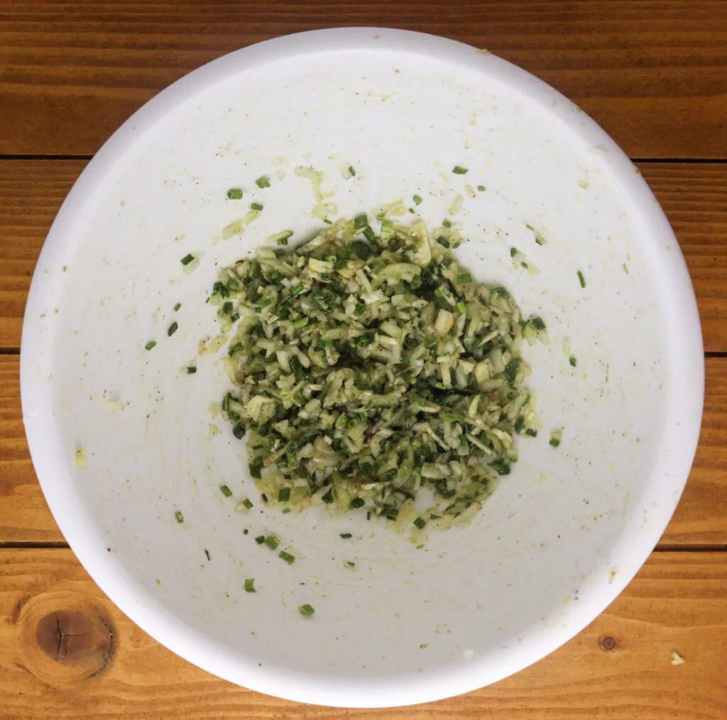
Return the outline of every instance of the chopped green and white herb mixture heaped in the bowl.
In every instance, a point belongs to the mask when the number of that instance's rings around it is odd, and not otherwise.
[[[450,222],[430,239],[378,218],[220,272],[209,302],[235,331],[222,414],[270,505],[445,528],[510,473],[515,435],[537,434],[521,348],[547,330],[459,266]]]

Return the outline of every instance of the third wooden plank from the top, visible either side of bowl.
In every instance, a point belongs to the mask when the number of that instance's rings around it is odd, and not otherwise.
[[[23,421],[17,356],[0,355],[0,543],[63,541],[33,471]],[[727,357],[707,358],[702,437],[666,546],[727,546]]]

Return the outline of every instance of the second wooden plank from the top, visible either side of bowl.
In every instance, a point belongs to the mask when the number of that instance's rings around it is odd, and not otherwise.
[[[43,240],[84,161],[0,161],[0,347],[20,347]],[[727,352],[727,164],[639,163],[686,256],[704,347]]]

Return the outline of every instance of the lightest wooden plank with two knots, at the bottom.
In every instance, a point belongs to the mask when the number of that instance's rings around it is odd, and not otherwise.
[[[600,618],[531,668],[439,703],[343,711],[186,663],[116,610],[71,551],[0,550],[0,707],[10,719],[724,720],[726,596],[727,552],[656,553]],[[77,629],[59,643],[49,626]]]

